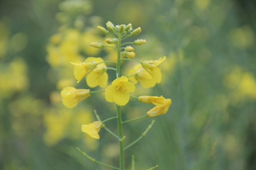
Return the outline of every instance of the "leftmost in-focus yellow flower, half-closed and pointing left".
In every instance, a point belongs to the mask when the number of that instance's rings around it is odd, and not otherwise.
[[[90,90],[88,89],[76,89],[74,87],[65,87],[60,92],[62,103],[67,108],[75,107],[78,102],[89,98]]]

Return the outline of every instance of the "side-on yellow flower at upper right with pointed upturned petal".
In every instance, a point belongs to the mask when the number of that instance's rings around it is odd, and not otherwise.
[[[157,83],[160,83],[161,79],[162,79],[161,69],[159,67],[157,67],[157,66],[159,64],[161,64],[165,59],[166,59],[166,57],[164,56],[163,59],[160,58],[159,60],[148,60],[148,61],[142,62],[142,67],[150,75],[152,75],[153,79],[155,79],[155,81]]]

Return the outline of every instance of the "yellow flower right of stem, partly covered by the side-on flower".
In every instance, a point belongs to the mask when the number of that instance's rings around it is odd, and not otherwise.
[[[142,68],[141,64],[136,64],[133,66],[132,70],[130,70],[128,73],[128,76],[129,75],[134,75],[129,77],[129,80],[131,80],[132,83],[137,84],[140,82],[144,88],[154,87],[157,83],[155,79],[153,79],[152,76],[144,68]]]

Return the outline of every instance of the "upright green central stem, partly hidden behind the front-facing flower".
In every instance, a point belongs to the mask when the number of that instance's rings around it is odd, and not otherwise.
[[[117,64],[116,64],[116,78],[120,77],[120,59],[121,59],[121,34],[118,35],[118,47],[117,47]],[[117,129],[118,129],[118,138],[119,138],[119,162],[120,170],[124,170],[124,146],[121,139],[123,138],[123,124],[121,117],[120,106],[116,105],[116,115],[117,115]]]

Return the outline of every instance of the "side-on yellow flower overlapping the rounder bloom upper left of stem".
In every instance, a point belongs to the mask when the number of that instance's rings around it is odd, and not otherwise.
[[[90,62],[90,63],[86,63],[86,60],[84,60],[83,63],[81,62],[76,62],[76,63],[72,63],[71,64],[75,65],[74,68],[74,76],[76,78],[77,83],[79,83],[84,76],[86,76],[87,74],[89,74],[91,71],[94,70],[94,68],[97,67],[97,63],[96,62]]]

